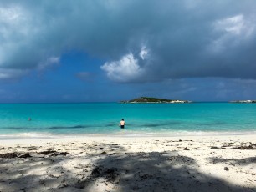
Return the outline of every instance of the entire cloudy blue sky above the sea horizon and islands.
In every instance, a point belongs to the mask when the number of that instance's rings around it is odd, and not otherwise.
[[[0,103],[256,99],[254,0],[0,0]]]

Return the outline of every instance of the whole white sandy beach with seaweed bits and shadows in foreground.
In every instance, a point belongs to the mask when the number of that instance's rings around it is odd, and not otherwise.
[[[0,191],[256,191],[256,135],[0,141]]]

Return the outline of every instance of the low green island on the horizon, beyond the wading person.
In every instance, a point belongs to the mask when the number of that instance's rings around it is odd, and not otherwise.
[[[149,97],[141,97],[136,99],[131,99],[128,101],[120,101],[122,104],[135,104],[135,103],[168,103],[168,104],[174,104],[174,103],[192,103],[192,101],[187,100],[173,100],[173,99],[159,99],[159,98],[149,98]]]

